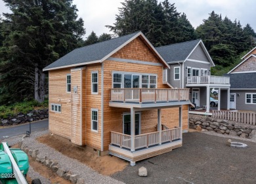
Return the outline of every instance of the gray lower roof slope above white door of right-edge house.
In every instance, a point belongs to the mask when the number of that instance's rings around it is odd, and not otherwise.
[[[230,77],[230,88],[256,88],[256,73],[229,73],[224,76]]]

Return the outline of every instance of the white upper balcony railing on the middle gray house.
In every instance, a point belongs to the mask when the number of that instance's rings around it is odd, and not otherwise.
[[[223,76],[193,76],[187,77],[187,84],[230,84],[229,77]]]

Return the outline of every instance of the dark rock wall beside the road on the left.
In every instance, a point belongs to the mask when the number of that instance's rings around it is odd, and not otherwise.
[[[48,109],[33,110],[30,113],[32,114],[31,117],[24,113],[18,113],[16,116],[10,116],[6,119],[1,119],[0,126],[17,125],[35,120],[48,119],[49,117]]]

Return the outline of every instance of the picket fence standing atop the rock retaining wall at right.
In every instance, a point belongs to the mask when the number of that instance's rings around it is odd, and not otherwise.
[[[244,124],[256,123],[256,113],[252,112],[236,112],[236,111],[213,111],[213,118],[216,119],[226,119],[234,120],[237,122],[242,122]]]

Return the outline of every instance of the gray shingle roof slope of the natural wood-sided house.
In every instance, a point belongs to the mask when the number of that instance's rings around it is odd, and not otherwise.
[[[62,58],[56,60],[56,62],[53,62],[53,64],[48,65],[44,69],[51,69],[54,67],[62,67],[66,65],[81,64],[85,62],[101,60],[102,58],[110,54],[110,52],[115,50],[117,47],[123,45],[123,43],[131,39],[137,33],[139,33],[139,31],[130,35],[110,39],[108,41],[103,41],[100,43],[95,43],[93,45],[76,48]]]

